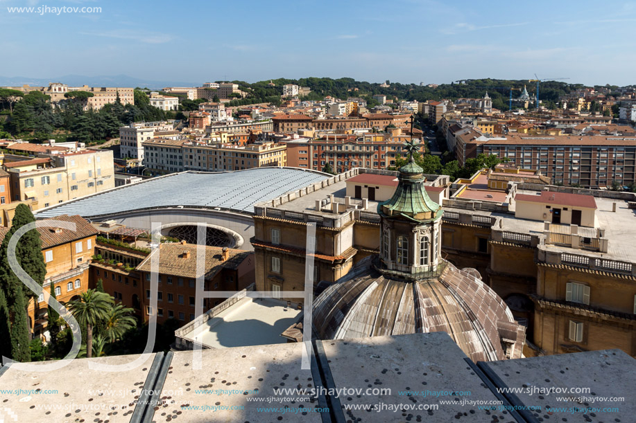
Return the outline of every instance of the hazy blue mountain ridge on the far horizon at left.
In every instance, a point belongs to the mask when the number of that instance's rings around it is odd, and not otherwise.
[[[83,76],[83,75],[64,75],[55,78],[26,78],[23,76],[5,77],[0,76],[0,87],[20,87],[24,84],[32,86],[46,87],[49,82],[62,82],[74,87],[88,85],[89,87],[141,87],[150,89],[162,89],[164,87],[196,87],[201,83],[184,82],[184,81],[155,81],[140,78],[133,78],[128,75],[101,75],[101,76]]]

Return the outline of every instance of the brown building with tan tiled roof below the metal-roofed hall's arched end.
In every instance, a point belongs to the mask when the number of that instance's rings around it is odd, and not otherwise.
[[[152,315],[157,323],[168,318],[183,322],[194,321],[196,315],[197,245],[180,243],[161,244],[160,249],[137,266],[141,276],[141,309],[144,322]],[[159,260],[159,289],[157,309],[151,305],[151,262]],[[240,291],[254,282],[254,253],[237,249],[205,246],[205,278],[203,290]],[[204,298],[203,312],[220,304],[225,298]]]

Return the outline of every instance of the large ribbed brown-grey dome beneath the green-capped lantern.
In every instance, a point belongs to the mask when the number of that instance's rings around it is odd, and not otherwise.
[[[443,331],[472,361],[521,357],[525,328],[473,269],[441,260],[432,277],[406,282],[371,262],[361,260],[314,301],[320,339]]]

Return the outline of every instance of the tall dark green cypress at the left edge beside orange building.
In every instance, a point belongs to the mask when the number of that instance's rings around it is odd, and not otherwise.
[[[12,226],[4,237],[0,246],[0,289],[6,298],[8,316],[10,321],[10,340],[12,358],[16,361],[29,361],[31,353],[28,345],[28,318],[26,310],[28,301],[36,298],[11,270],[8,258],[8,245],[15,232],[22,226],[35,222],[33,213],[25,204],[19,204],[15,208]],[[33,280],[42,286],[46,276],[46,265],[42,256],[42,241],[40,233],[35,230],[28,231],[20,237],[15,248],[15,256],[20,267],[31,276]],[[1,322],[0,322],[1,323]],[[7,340],[2,340],[6,342]]]

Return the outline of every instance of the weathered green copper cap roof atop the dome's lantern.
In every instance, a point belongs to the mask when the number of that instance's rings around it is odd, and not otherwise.
[[[399,168],[399,183],[393,197],[378,205],[378,213],[386,217],[402,216],[415,222],[441,217],[442,208],[427,194],[422,172],[412,160]]]

